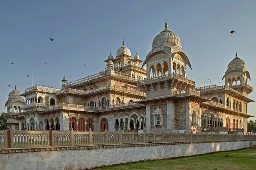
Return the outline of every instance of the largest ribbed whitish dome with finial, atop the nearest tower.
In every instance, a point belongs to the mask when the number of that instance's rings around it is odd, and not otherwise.
[[[167,28],[167,21],[165,23],[165,29],[157,35],[157,37],[154,38],[153,43],[152,43],[152,48],[159,47],[161,45],[166,45],[166,46],[175,46],[177,45],[178,47],[181,48],[180,45],[180,37],[177,36],[177,34],[173,33],[171,30]]]

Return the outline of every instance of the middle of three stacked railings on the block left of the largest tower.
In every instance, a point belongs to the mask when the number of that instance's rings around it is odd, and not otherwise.
[[[129,93],[129,94],[146,96],[146,94],[144,92],[136,91],[136,90],[129,90],[127,88],[123,88],[123,87],[119,87],[119,86],[115,86],[115,85],[107,85],[107,86],[97,87],[97,88],[94,88],[93,90],[87,90],[87,91],[82,91],[82,90],[73,89],[73,88],[66,88],[66,89],[61,89],[61,91],[58,91],[57,94],[72,93],[72,94],[85,95],[85,94],[96,93],[99,91],[106,91],[106,90],[121,91],[121,92]]]

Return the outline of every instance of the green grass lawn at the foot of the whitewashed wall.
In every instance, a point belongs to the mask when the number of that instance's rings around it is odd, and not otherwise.
[[[178,159],[128,163],[97,170],[256,170],[256,148]]]

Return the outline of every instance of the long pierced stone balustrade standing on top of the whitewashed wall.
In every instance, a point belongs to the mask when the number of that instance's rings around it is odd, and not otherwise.
[[[140,144],[164,142],[213,142],[255,140],[256,135],[213,135],[192,133],[135,133],[135,132],[70,132],[64,131],[0,131],[2,148],[31,148],[51,146],[83,146],[109,144]]]

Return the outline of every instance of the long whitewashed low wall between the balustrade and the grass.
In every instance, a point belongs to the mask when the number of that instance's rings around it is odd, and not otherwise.
[[[239,150],[253,145],[256,145],[256,140],[6,149],[9,153],[0,154],[0,164],[3,170],[82,170],[131,161]]]

